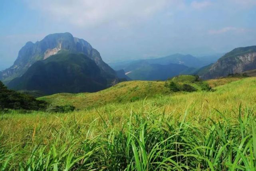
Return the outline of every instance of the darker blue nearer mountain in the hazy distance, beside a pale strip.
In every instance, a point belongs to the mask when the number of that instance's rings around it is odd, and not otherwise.
[[[126,75],[132,80],[167,80],[168,78],[186,73],[189,67],[170,63],[168,65],[151,64],[138,61],[125,68]]]

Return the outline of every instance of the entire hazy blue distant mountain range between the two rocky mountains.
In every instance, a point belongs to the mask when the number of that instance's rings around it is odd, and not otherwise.
[[[197,58],[192,55],[174,54],[156,59],[141,59],[109,63],[115,69],[123,69],[133,80],[166,80],[181,74],[193,74],[197,69],[215,62],[220,55]]]

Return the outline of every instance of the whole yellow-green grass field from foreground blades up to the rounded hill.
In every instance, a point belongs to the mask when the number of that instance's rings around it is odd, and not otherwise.
[[[1,114],[0,169],[255,171],[256,78],[208,83],[214,92],[124,82],[98,94],[43,97],[75,106],[103,100],[95,108]]]

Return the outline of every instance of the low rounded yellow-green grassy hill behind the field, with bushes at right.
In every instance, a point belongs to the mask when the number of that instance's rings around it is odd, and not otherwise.
[[[194,76],[178,76],[169,81],[128,81],[122,82],[105,90],[94,93],[60,93],[50,96],[40,97],[38,99],[45,100],[55,105],[70,104],[78,109],[87,107],[95,107],[109,102],[131,102],[144,98],[154,98],[162,95],[179,95],[187,92],[171,92],[167,84],[175,81],[179,84],[186,83],[195,87],[198,91],[201,86],[195,82]],[[204,82],[206,83],[206,82]]]

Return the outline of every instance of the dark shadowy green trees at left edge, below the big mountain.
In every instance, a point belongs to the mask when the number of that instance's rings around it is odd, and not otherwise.
[[[22,94],[14,90],[8,90],[0,81],[0,110],[4,108],[40,110],[46,108],[46,102],[36,100],[27,94]]]

